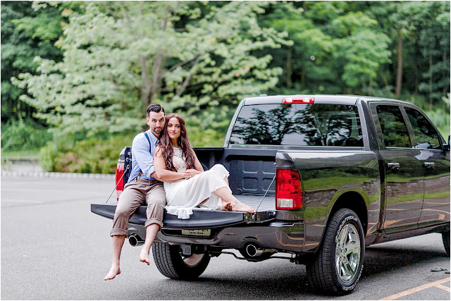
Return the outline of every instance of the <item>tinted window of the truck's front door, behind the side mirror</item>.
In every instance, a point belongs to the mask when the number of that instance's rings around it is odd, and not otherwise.
[[[405,108],[414,128],[416,145],[420,149],[440,149],[438,133],[431,123],[416,109]]]

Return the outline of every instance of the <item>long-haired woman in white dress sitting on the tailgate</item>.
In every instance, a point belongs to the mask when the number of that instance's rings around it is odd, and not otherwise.
[[[156,177],[164,182],[166,211],[179,219],[189,219],[192,208],[254,212],[232,195],[227,169],[221,164],[204,171],[187,139],[185,121],[172,113],[155,149]]]

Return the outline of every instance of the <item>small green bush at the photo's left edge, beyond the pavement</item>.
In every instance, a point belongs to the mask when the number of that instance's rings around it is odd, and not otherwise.
[[[47,128],[32,120],[19,119],[1,124],[1,149],[7,152],[39,149],[51,138]]]

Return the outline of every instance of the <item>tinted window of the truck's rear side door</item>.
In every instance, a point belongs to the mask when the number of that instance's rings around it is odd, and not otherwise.
[[[402,113],[397,106],[377,106],[385,147],[411,147]]]

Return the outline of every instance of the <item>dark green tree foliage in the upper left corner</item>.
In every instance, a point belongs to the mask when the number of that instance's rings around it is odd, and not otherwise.
[[[35,56],[61,60],[61,50],[53,42],[61,34],[58,9],[35,11],[30,1],[1,2],[1,122],[32,118],[36,111],[19,100],[27,90],[11,85],[18,73],[35,73]]]

